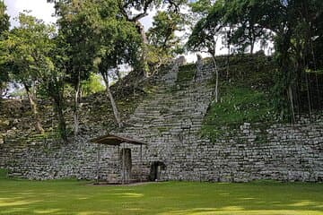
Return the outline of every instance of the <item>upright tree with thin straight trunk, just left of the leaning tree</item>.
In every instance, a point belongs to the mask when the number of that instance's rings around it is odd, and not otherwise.
[[[81,82],[87,80],[92,72],[95,47],[92,40],[92,20],[89,11],[92,1],[58,1],[56,4],[58,26],[62,39],[65,40],[65,68],[67,82],[74,88],[74,136],[79,131],[79,102]],[[90,18],[90,19],[89,19]]]

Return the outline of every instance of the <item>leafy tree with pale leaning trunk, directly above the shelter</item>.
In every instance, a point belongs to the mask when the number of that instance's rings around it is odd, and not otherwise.
[[[118,127],[121,128],[123,124],[115,99],[109,88],[109,79],[115,73],[119,73],[118,65],[120,64],[137,66],[139,62],[137,51],[142,46],[142,42],[133,22],[128,22],[124,19],[114,19],[114,17],[118,17],[119,11],[117,10],[118,7],[115,8],[116,10],[113,10],[114,7],[111,4],[107,5],[107,7],[97,4],[98,10],[96,11],[100,14],[109,14],[109,16],[96,16],[96,22],[100,23],[100,30],[96,32],[94,38],[97,50],[95,66],[106,85],[107,97],[112,106]]]

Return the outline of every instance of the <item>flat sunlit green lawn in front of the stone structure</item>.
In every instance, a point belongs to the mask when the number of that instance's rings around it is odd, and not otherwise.
[[[89,185],[72,180],[0,180],[0,214],[319,215],[323,185],[166,182]]]

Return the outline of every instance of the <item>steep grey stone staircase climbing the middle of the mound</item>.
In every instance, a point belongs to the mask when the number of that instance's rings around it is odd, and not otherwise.
[[[210,84],[213,72],[210,64],[205,64],[196,71],[190,81],[179,82],[178,72],[179,70],[170,69],[156,80],[157,87],[153,95],[135,109],[124,130],[117,132],[148,143],[143,151],[145,171],[149,172],[153,161],[162,161],[167,167],[163,179],[175,179],[172,176],[180,179],[176,169],[183,171],[185,167],[182,167],[182,160],[190,159],[194,162],[197,159],[196,147],[201,142],[198,133],[214,90]],[[133,148],[133,163],[140,165],[137,147],[127,145],[127,148]],[[189,172],[192,174],[191,179],[198,180],[193,169],[188,168],[188,174]]]

